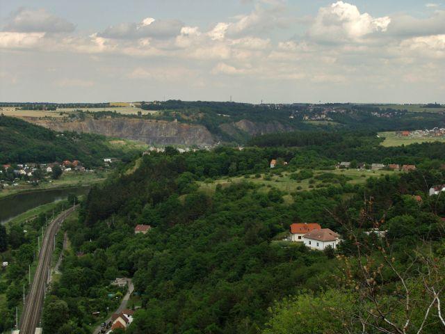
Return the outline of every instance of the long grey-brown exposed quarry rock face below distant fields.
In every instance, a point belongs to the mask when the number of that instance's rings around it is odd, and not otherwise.
[[[101,118],[99,120],[86,118],[86,120],[74,121],[38,118],[24,119],[58,132],[72,131],[103,134],[104,136],[143,141],[148,144],[204,146],[214,143],[211,133],[202,125],[188,125],[138,118]]]

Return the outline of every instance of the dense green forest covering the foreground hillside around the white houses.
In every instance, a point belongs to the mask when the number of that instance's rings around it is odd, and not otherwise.
[[[65,257],[65,278],[44,308],[45,317],[63,304],[64,317],[45,331],[86,333],[92,307],[85,301],[105,296],[122,276],[133,278],[142,303],[127,329],[132,334],[443,331],[437,298],[444,289],[445,197],[428,196],[428,189],[445,183],[445,145],[393,150],[367,133],[307,136],[242,151],[168,148],[93,187],[79,221],[65,227],[86,260]],[[414,161],[417,170],[290,194],[249,180],[269,173],[272,158],[289,161],[273,173],[298,171],[298,182],[312,177],[302,168],[328,170],[339,158],[394,157]],[[245,182],[210,193],[200,188],[236,175]],[[344,241],[324,253],[283,241],[295,221],[318,222]],[[134,234],[136,224],[152,230]],[[386,237],[363,233],[371,228],[387,230]],[[104,312],[105,304],[94,307]]]

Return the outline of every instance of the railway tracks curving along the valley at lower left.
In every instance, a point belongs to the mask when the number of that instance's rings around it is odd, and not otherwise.
[[[35,328],[39,324],[46,289],[45,285],[49,278],[49,269],[51,268],[54,236],[60,228],[60,224],[73,210],[74,208],[72,207],[59,214],[54,221],[49,223],[47,231],[44,233],[42,248],[40,248],[39,253],[39,263],[31,284],[31,290],[24,305],[24,311],[20,317],[20,334],[34,334]]]

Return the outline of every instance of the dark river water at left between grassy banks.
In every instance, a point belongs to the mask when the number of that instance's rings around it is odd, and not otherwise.
[[[64,200],[70,193],[85,195],[89,187],[51,189],[44,191],[30,191],[17,193],[7,198],[0,198],[0,224],[8,223],[11,219],[34,207],[44,205],[58,200]]]

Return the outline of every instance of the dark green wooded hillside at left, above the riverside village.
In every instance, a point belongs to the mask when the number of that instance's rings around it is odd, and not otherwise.
[[[135,153],[111,148],[104,136],[58,133],[18,118],[0,116],[0,164],[76,159],[91,167],[101,166],[104,157],[128,160]]]

